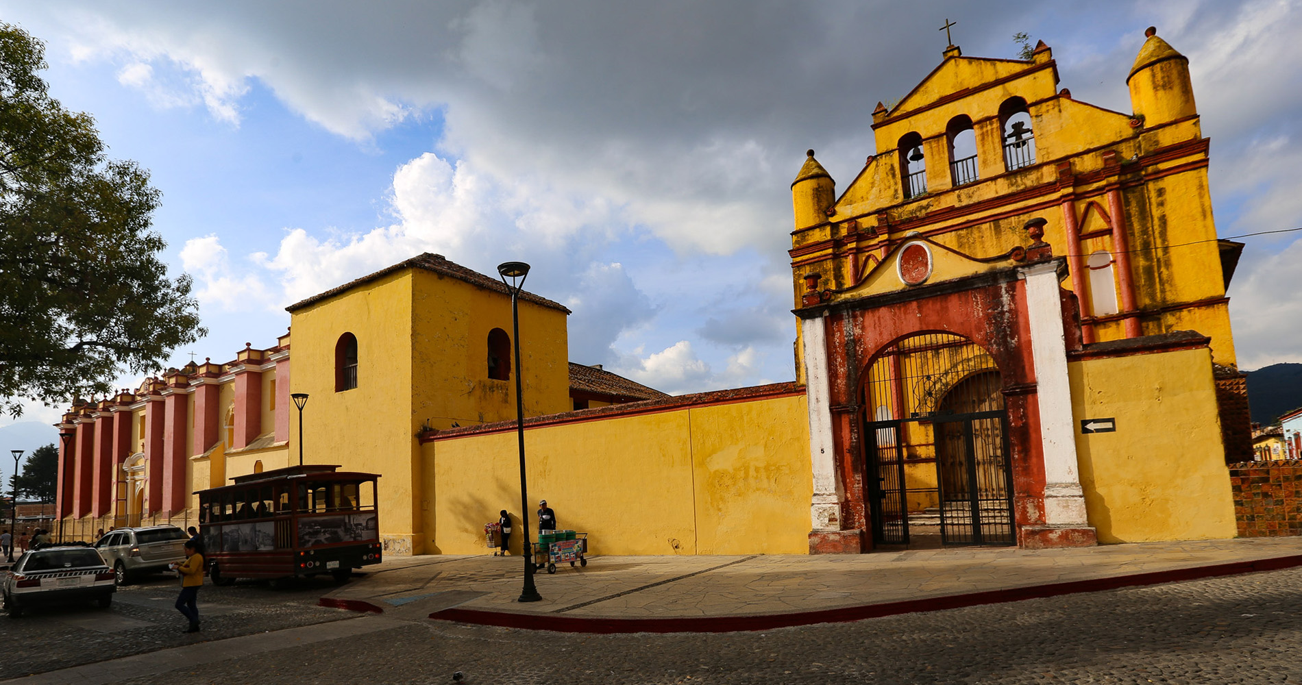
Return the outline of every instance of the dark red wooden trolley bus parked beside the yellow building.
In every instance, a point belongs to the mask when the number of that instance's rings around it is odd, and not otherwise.
[[[195,492],[214,585],[293,578],[380,563],[376,474],[289,466]]]

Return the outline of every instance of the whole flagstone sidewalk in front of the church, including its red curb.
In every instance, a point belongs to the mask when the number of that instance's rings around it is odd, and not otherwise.
[[[1302,565],[1302,538],[1074,550],[917,550],[820,556],[603,556],[535,576],[518,556],[396,557],[322,604],[385,616],[566,632],[719,632],[1152,585]]]

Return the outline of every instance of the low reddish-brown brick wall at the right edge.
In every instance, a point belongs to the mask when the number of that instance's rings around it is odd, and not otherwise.
[[[1302,460],[1229,465],[1241,538],[1302,535]]]

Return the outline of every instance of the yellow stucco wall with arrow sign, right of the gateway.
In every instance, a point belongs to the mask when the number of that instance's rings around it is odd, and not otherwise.
[[[1068,365],[1072,409],[1116,418],[1075,436],[1099,542],[1233,538],[1234,504],[1216,417],[1211,354],[1190,349]]]

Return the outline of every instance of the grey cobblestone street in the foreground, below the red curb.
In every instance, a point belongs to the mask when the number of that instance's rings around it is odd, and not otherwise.
[[[165,594],[142,590],[126,590],[122,595]],[[158,669],[125,682],[450,684],[457,671],[471,685],[1302,680],[1302,656],[1297,654],[1302,643],[1302,570],[1298,569],[852,624],[668,636],[582,636],[357,617],[305,606],[315,595],[303,589],[283,593],[250,585],[234,590],[238,593],[230,595],[229,606],[245,608],[214,616],[212,629],[206,629],[203,639],[216,639],[208,646],[220,651],[224,637],[273,630],[264,637],[263,649],[270,651],[189,668],[181,660],[176,671]],[[113,611],[120,611],[120,606],[129,607],[132,617],[146,616],[132,600],[116,603]],[[87,616],[95,611],[86,609]],[[299,638],[273,643],[292,633],[277,634],[273,625],[337,619],[346,621],[332,625],[355,626],[355,634],[310,645],[296,645]],[[178,633],[174,621],[165,620],[156,628],[142,626],[109,637],[66,628],[66,617],[40,621],[23,619],[4,628],[7,641],[20,639],[25,645],[20,654],[30,659],[27,663],[61,660],[65,667],[122,656],[126,650],[163,649],[190,641]],[[232,622],[241,628],[223,626]],[[53,624],[65,628],[56,629]]]

